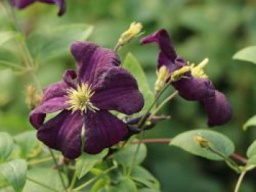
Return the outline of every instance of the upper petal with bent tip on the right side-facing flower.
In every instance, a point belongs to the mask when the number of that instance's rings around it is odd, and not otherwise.
[[[141,39],[140,42],[142,45],[151,42],[157,42],[161,50],[161,54],[165,55],[170,60],[170,62],[174,64],[177,58],[177,54],[176,51],[174,50],[170,37],[164,28],[160,29],[154,34],[144,37],[143,39]]]

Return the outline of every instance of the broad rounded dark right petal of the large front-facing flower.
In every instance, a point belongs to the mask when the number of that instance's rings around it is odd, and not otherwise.
[[[144,105],[143,95],[132,74],[119,66],[108,69],[93,87],[91,102],[101,110],[116,110],[127,115],[139,112]]]

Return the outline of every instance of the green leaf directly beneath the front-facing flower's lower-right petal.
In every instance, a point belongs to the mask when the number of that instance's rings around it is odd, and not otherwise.
[[[107,155],[106,151],[99,153],[97,155],[83,154],[78,158],[75,164],[75,170],[78,179],[85,176],[97,163],[102,161],[102,158]]]

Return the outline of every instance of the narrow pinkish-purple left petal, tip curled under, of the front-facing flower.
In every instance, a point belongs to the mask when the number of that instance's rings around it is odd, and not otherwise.
[[[42,102],[42,104],[30,112],[29,120],[31,125],[34,128],[39,128],[45,120],[45,114],[67,109],[69,104],[66,101],[67,98],[65,97],[56,97]]]

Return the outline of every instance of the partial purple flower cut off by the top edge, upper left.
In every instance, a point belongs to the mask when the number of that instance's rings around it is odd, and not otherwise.
[[[64,0],[11,0],[12,4],[18,9],[24,9],[34,2],[42,2],[45,4],[56,4],[59,6],[58,15],[61,16],[66,11],[66,4]]]

